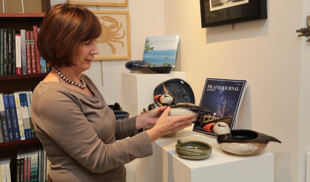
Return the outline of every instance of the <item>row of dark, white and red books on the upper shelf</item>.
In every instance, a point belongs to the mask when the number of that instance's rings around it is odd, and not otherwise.
[[[33,31],[0,29],[0,76],[46,73],[50,69],[40,57],[37,37],[40,28]]]

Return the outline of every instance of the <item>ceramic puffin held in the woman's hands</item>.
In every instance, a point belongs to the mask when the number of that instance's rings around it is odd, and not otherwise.
[[[190,113],[197,115],[198,111],[203,113],[210,113],[209,110],[197,106],[192,103],[175,103],[175,98],[171,94],[156,95],[154,97],[160,106],[170,106],[171,110],[169,116],[181,116]]]

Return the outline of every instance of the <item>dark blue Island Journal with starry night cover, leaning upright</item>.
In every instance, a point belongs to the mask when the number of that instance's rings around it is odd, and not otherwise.
[[[238,111],[246,90],[246,80],[207,78],[200,100],[200,106],[209,109],[213,115],[198,113],[193,131],[215,136],[213,125],[223,121],[235,129]]]

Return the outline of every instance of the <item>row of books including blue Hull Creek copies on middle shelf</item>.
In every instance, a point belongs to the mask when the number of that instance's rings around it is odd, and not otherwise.
[[[37,138],[31,120],[31,91],[0,93],[0,143]]]

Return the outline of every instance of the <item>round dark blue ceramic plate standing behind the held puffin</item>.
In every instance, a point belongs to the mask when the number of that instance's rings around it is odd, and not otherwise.
[[[186,81],[182,79],[174,78],[162,82],[161,84],[157,85],[153,94],[155,96],[159,94],[167,94],[167,92],[173,95],[176,103],[189,102],[195,104],[193,89]],[[155,99],[154,103],[159,106]]]

